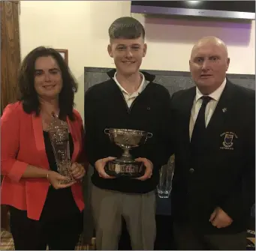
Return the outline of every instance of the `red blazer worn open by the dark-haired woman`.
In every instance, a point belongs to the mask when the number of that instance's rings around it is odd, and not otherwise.
[[[83,121],[74,110],[74,121],[68,127],[74,140],[72,162],[85,157],[83,152]],[[80,159],[81,160],[81,159]],[[82,161],[80,161],[82,162]],[[49,189],[47,178],[21,178],[28,164],[50,169],[44,146],[41,116],[23,111],[22,103],[10,104],[1,118],[1,204],[26,210],[28,217],[39,220]],[[82,184],[71,187],[80,211],[84,208]],[[65,210],[65,208],[63,209]]]

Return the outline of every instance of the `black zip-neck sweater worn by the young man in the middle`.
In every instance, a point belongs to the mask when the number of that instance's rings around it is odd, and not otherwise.
[[[158,170],[167,163],[170,148],[167,135],[170,133],[170,94],[162,85],[155,84],[155,76],[142,72],[149,81],[146,88],[131,104],[125,102],[122,91],[113,80],[115,70],[108,75],[111,79],[93,85],[85,94],[86,151],[89,163],[104,157],[120,157],[122,149],[110,142],[106,128],[144,130],[153,136],[146,144],[131,150],[133,157],[146,157],[153,163],[152,178],[138,181],[128,178],[104,179],[95,170],[92,183],[107,190],[122,193],[148,193],[158,184]]]

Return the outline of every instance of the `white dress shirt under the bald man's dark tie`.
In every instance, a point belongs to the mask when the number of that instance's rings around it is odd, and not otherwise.
[[[224,87],[226,85],[227,80],[224,79],[224,81],[222,82],[222,84],[218,87],[218,89],[216,89],[215,91],[213,91],[211,94],[209,94],[209,97],[212,97],[212,100],[209,101],[209,103],[207,103],[206,106],[206,112],[205,112],[205,120],[206,120],[206,127],[209,124],[210,119],[212,118],[212,114],[215,111],[215,108],[217,106],[218,100],[221,97],[222,91],[224,90]],[[199,89],[196,89],[196,95],[194,97],[194,103],[191,109],[191,117],[190,117],[190,122],[189,122],[189,136],[191,139],[191,135],[194,129],[194,123],[197,120],[197,115],[198,112],[200,110],[200,107],[202,105],[203,100],[200,98],[202,97],[203,94],[201,94],[201,92],[199,91]]]

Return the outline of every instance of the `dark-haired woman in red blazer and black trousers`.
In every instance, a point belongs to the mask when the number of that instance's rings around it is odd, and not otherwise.
[[[74,81],[62,55],[38,47],[23,60],[20,99],[1,118],[2,205],[10,207],[16,250],[74,250],[82,232],[81,179],[85,174],[83,121],[73,108]],[[47,127],[52,112],[69,129],[71,174],[57,171]]]

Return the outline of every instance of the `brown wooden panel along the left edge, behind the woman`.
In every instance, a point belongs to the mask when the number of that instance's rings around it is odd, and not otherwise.
[[[17,99],[20,67],[19,1],[0,1],[1,11],[1,115]],[[2,175],[1,175],[2,183]],[[1,228],[9,230],[8,207],[1,205]]]

